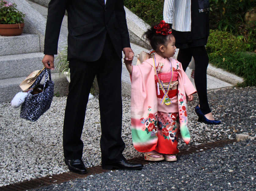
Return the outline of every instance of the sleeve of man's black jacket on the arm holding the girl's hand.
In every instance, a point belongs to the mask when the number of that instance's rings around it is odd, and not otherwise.
[[[118,22],[118,28],[122,39],[122,48],[131,47],[129,32],[126,24],[125,10],[123,7],[123,0],[118,0],[115,4],[116,19]]]

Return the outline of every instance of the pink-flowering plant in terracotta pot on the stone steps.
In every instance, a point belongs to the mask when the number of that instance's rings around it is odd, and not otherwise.
[[[0,0],[0,35],[21,35],[25,14],[16,9],[16,6],[15,3]]]

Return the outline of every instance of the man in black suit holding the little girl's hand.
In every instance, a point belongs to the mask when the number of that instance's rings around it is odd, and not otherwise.
[[[129,59],[129,53],[133,51],[123,0],[51,0],[42,60],[48,69],[54,69],[53,60],[65,10],[68,12],[71,73],[63,127],[65,163],[72,172],[86,173],[81,135],[90,88],[96,75],[100,90],[102,168],[141,169],[142,164],[128,162],[122,155],[125,147],[121,137],[122,50],[125,63],[131,63],[133,59]]]

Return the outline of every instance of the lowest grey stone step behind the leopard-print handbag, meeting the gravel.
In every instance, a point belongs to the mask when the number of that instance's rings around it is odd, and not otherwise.
[[[27,76],[0,80],[0,103],[11,102],[13,97],[21,91],[19,85]],[[66,77],[59,76],[58,73],[51,73],[54,81],[54,94],[63,96],[68,94],[68,80]],[[41,83],[44,83],[42,79]]]

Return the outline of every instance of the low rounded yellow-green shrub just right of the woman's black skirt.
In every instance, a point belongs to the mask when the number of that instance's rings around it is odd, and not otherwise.
[[[246,44],[241,37],[235,37],[229,32],[210,30],[206,50],[209,56],[214,57],[245,51]]]

